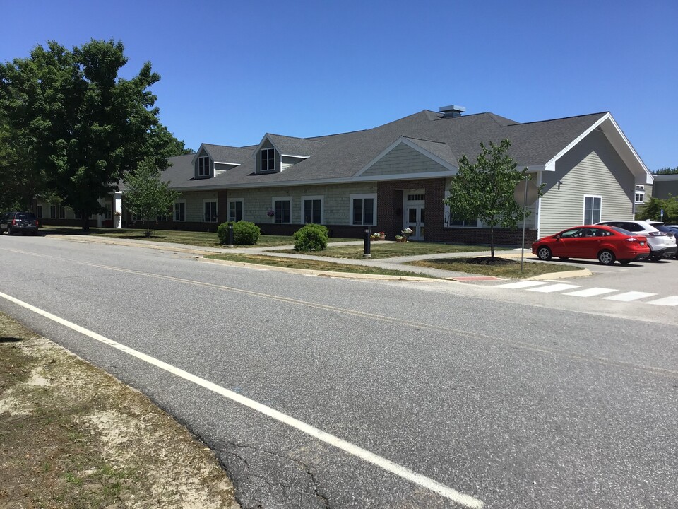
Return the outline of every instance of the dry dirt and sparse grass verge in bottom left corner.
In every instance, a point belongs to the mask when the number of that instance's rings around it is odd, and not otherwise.
[[[239,505],[184,426],[0,313],[0,509],[94,507]]]

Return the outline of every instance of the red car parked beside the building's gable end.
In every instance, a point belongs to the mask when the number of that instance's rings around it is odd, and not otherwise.
[[[577,226],[537,240],[532,252],[539,259],[559,257],[597,259],[603,265],[612,265],[614,260],[626,265],[631,260],[650,255],[648,240],[643,235],[615,226]]]

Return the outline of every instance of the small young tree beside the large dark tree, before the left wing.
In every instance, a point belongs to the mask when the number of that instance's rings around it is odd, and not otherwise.
[[[169,189],[169,182],[160,180],[160,170],[155,167],[152,158],[144,159],[136,172],[126,175],[125,186],[123,199],[126,209],[141,217],[146,226],[146,237],[150,237],[150,221],[172,213],[179,193]]]

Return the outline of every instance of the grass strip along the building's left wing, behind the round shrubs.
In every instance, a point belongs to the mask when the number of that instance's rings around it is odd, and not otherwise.
[[[216,228],[216,227],[215,227]],[[145,230],[139,228],[122,228],[114,230],[112,228],[90,228],[88,233],[84,233],[82,228],[69,226],[44,226],[42,232],[49,235],[58,233],[59,235],[96,235],[98,237],[153,240],[154,242],[175,242],[177,244],[188,244],[200,247],[224,247],[219,243],[216,232],[191,232],[179,230],[152,230],[150,237],[145,236]],[[331,242],[344,242],[355,240],[349,238],[333,238]],[[295,241],[291,235],[261,235],[256,247],[273,247],[282,245],[292,245]],[[242,246],[248,247],[248,246]],[[254,246],[249,246],[254,247]]]

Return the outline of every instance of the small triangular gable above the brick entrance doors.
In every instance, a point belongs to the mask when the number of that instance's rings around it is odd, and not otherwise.
[[[451,163],[454,160],[456,159],[447,144],[400,136],[365,168],[357,172],[356,177],[455,175],[457,168]]]

